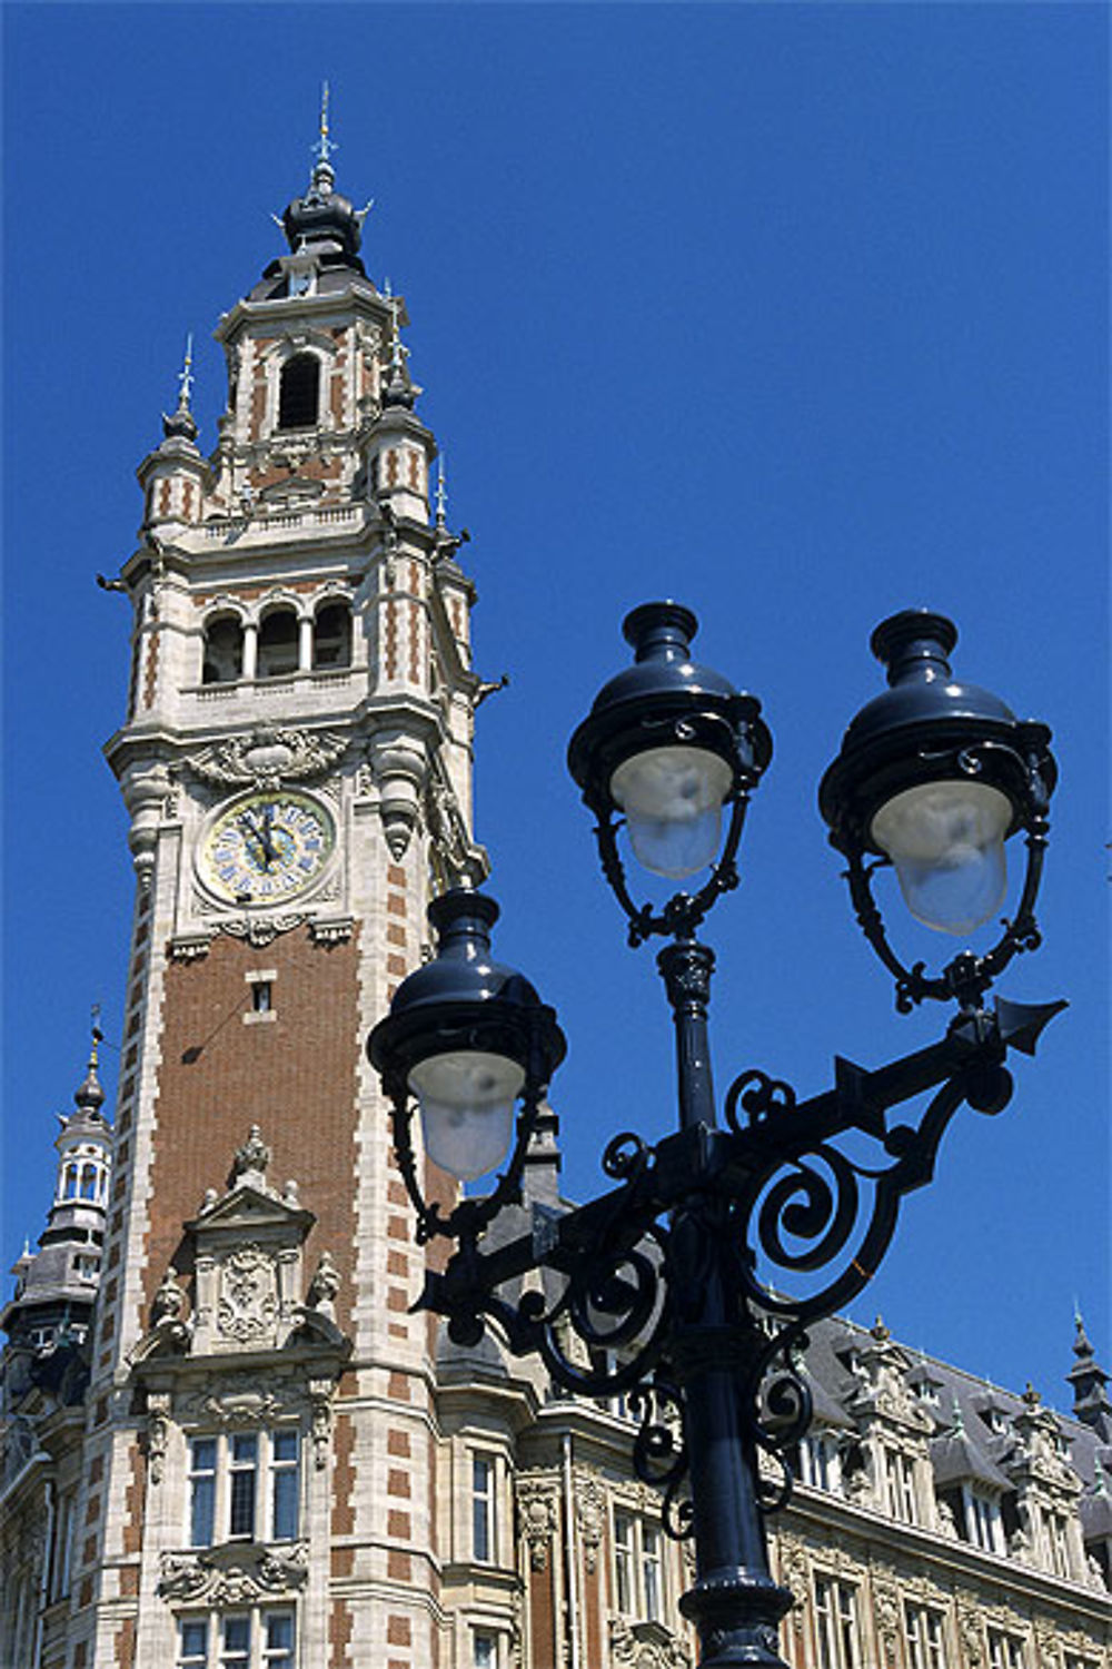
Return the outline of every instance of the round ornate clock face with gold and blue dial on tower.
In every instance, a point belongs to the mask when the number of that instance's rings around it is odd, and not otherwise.
[[[333,845],[332,818],[308,794],[248,794],[213,823],[200,871],[220,898],[278,903],[317,880]]]

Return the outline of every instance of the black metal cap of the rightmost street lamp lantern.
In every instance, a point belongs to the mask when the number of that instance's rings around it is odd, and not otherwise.
[[[875,811],[920,783],[967,774],[1012,803],[1012,833],[1030,803],[1030,766],[1049,796],[1057,768],[1045,724],[1022,723],[990,689],[954,678],[949,656],[957,628],[932,609],[904,609],[872,633],[872,653],[887,666],[889,688],[850,721],[819,788],[819,809],[835,834],[879,851]]]

